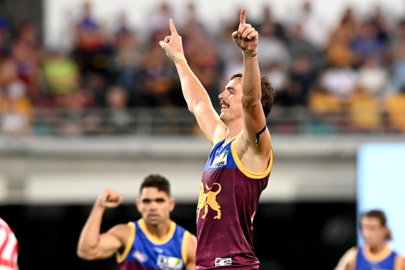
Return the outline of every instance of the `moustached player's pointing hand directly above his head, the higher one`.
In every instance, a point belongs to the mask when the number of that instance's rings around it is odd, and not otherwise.
[[[239,22],[238,31],[232,33],[234,42],[239,48],[248,51],[256,52],[257,44],[259,43],[259,33],[252,27],[251,24],[246,24],[246,10],[241,11],[241,21]]]

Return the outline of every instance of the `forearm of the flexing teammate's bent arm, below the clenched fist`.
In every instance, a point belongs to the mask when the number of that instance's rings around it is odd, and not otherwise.
[[[103,220],[105,208],[95,204],[89,218],[87,219],[78,242],[78,256],[89,258],[100,240],[101,221]]]

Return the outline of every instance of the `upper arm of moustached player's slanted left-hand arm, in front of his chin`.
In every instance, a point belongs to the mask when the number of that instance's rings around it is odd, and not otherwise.
[[[194,110],[194,117],[196,117],[202,133],[212,144],[226,135],[226,126],[211,104],[198,103]]]

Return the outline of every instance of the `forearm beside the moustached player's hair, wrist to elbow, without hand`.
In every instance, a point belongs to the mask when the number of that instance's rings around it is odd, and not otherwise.
[[[257,56],[243,56],[242,104],[245,107],[256,106],[260,103],[261,86],[260,71]]]

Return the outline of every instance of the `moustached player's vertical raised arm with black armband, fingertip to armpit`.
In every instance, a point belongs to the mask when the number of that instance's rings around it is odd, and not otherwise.
[[[244,153],[246,149],[249,149],[250,153],[260,155],[264,160],[268,161],[271,144],[270,133],[266,128],[266,116],[261,106],[261,78],[257,61],[259,33],[250,24],[246,24],[245,8],[241,11],[239,28],[232,33],[232,37],[243,51],[241,99],[243,138],[238,138],[239,142],[236,142],[236,147],[239,147],[240,151],[238,152]],[[264,131],[260,133],[263,129]],[[258,141],[257,136],[259,137]],[[243,149],[244,147],[246,149]]]

